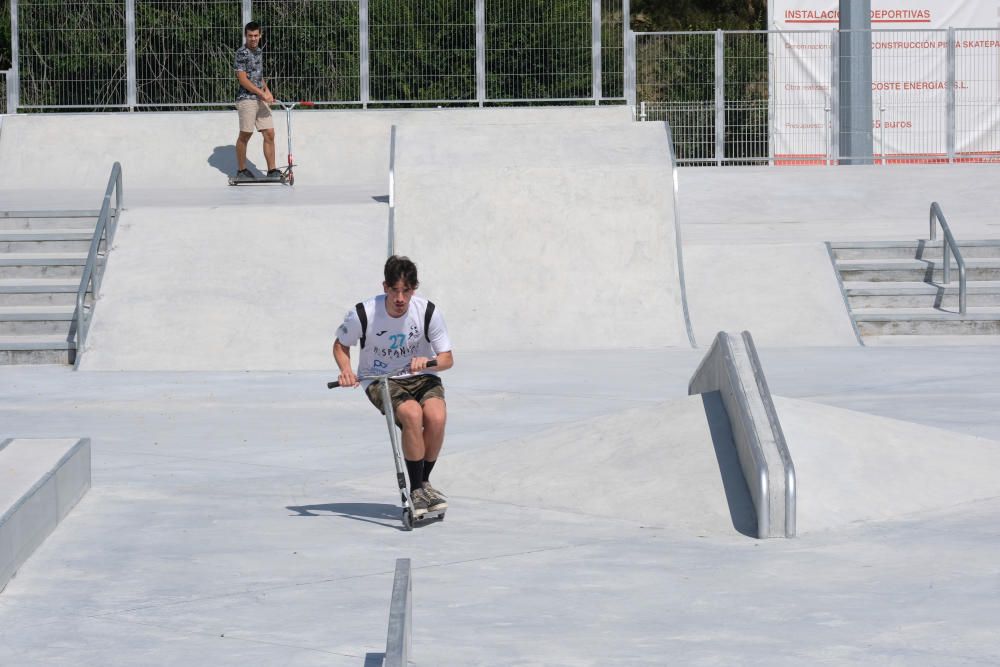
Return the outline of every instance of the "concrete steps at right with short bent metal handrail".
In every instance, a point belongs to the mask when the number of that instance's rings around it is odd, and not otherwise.
[[[958,264],[954,258],[951,282],[942,282],[941,241],[829,246],[863,339],[885,344],[892,336],[926,336],[927,342],[933,343],[1000,335],[1000,240],[959,243],[967,277],[965,315],[959,312]]]

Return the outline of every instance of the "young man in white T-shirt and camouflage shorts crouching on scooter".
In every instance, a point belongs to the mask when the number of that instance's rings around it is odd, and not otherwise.
[[[430,475],[444,444],[447,410],[444,386],[437,371],[454,360],[444,318],[427,299],[414,294],[419,286],[417,267],[407,257],[390,257],[384,268],[384,294],[372,297],[347,313],[337,330],[333,358],[342,387],[356,387],[362,378],[402,371],[389,380],[396,424],[403,432],[403,456],[410,478],[413,516],[444,510],[448,503],[431,486]],[[358,374],[351,370],[351,346],[361,347]],[[437,364],[431,370],[428,362]],[[372,404],[385,414],[377,383],[365,383]]]

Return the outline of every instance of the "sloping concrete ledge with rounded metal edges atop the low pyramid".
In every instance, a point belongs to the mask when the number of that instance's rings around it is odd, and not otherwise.
[[[757,513],[757,536],[795,536],[795,468],[750,332],[720,331],[688,383],[688,394],[717,391]]]

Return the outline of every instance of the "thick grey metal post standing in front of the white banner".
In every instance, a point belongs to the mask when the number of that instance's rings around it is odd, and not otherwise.
[[[872,163],[871,0],[840,0],[840,153]]]

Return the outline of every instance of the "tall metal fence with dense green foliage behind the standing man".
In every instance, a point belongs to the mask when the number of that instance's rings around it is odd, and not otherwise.
[[[278,97],[624,101],[629,0],[8,0],[18,109],[220,106],[263,27]]]

